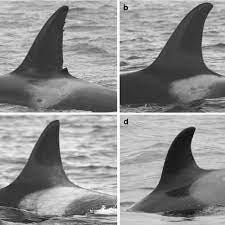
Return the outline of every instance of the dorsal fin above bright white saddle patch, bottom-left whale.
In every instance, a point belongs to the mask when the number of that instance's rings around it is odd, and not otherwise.
[[[61,161],[59,121],[51,122],[39,137],[24,169],[10,187],[43,189],[57,185],[70,186]]]

